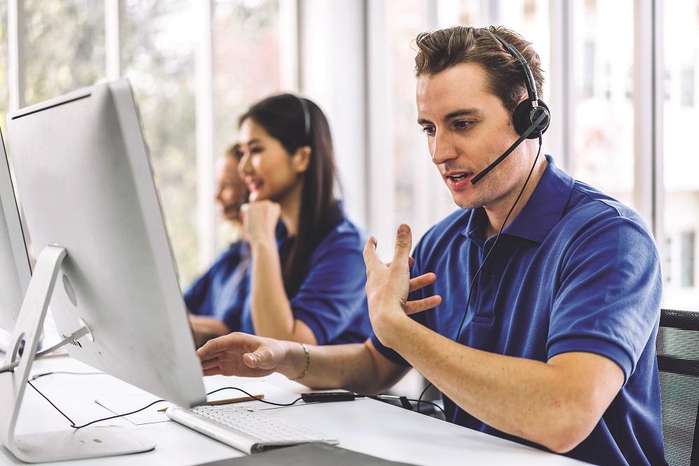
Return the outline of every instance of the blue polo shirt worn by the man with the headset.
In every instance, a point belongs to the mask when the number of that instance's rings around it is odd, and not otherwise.
[[[597,465],[665,465],[655,242],[637,213],[573,180],[550,156],[547,161],[531,198],[476,279],[459,342],[544,362],[570,351],[610,358],[624,371],[624,386],[589,437],[566,456]],[[434,272],[437,282],[410,299],[442,296],[441,305],[415,319],[452,340],[475,271],[495,240],[484,238],[485,221],[482,208],[454,212],[424,235],[413,254],[411,275]],[[372,341],[391,361],[408,364],[375,336]],[[449,398],[444,402],[453,423],[538,446],[491,428]]]

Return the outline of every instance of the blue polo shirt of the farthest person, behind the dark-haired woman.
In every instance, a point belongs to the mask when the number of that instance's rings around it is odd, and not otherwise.
[[[247,295],[250,248],[244,241],[226,250],[204,275],[185,291],[187,310],[223,321],[231,331],[240,329],[240,314]]]

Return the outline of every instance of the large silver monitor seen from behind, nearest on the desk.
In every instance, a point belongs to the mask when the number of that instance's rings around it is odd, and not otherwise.
[[[203,404],[203,373],[129,80],[11,112],[7,124],[17,191],[38,256],[24,305],[55,284],[50,305],[59,333],[89,329],[66,346],[70,356],[180,406]],[[27,314],[41,314],[42,306],[35,303],[37,310]],[[0,398],[6,375],[0,374]],[[18,391],[22,380],[13,375]],[[109,428],[98,429],[92,435],[104,437]],[[0,435],[4,430],[13,426],[0,425]],[[87,435],[81,432],[76,435]],[[103,437],[99,444],[121,442]],[[45,439],[24,450],[6,446],[22,460],[85,457],[74,451],[84,442],[50,442],[41,452]],[[128,451],[97,446],[89,456],[119,453]]]

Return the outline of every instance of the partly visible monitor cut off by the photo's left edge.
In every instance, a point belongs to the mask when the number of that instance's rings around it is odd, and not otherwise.
[[[0,133],[0,150],[5,144]],[[15,201],[10,167],[0,160],[0,351],[8,351],[10,335],[20,315],[31,270],[24,242],[20,213]]]

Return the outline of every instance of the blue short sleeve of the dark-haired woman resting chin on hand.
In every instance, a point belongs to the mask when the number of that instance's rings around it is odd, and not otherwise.
[[[333,342],[368,312],[360,242],[352,233],[330,233],[311,255],[308,275],[289,302],[294,319],[312,330],[318,344]]]

